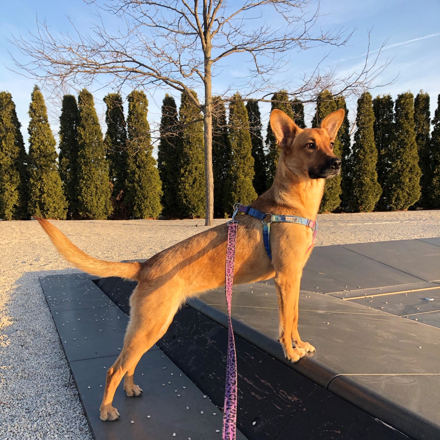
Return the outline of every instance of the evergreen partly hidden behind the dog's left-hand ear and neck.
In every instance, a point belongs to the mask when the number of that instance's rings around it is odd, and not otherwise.
[[[280,90],[279,92],[274,93],[272,95],[272,101],[279,102],[274,102],[271,104],[271,112],[272,110],[278,109],[283,111],[292,119],[295,117],[286,90]],[[272,132],[270,121],[268,122],[268,132],[266,135],[266,151],[266,188],[269,189],[274,181],[275,172],[278,166],[278,157],[281,151],[276,144],[276,139]]]

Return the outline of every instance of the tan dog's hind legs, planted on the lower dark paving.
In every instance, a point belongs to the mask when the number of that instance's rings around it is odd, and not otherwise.
[[[174,292],[170,296],[169,292]],[[139,298],[140,297],[140,298]],[[176,290],[165,289],[145,294],[140,290],[131,298],[132,315],[125,333],[121,354],[112,367],[107,370],[106,389],[100,407],[101,420],[116,420],[119,413],[112,406],[114,393],[125,375],[124,389],[127,396],[139,396],[142,390],[133,382],[137,363],[168,329],[179,308],[180,301]]]

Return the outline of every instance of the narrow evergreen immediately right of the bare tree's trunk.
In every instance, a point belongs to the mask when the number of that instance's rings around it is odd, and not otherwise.
[[[227,135],[226,108],[219,96],[213,97],[214,216],[224,217],[224,191],[231,157]]]

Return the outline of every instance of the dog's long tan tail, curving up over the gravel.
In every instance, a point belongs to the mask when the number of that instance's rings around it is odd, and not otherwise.
[[[48,220],[35,216],[34,218],[38,220],[38,223],[58,249],[58,252],[76,268],[102,278],[108,276],[118,276],[121,278],[139,281],[139,271],[141,268],[139,263],[116,263],[111,261],[97,260],[96,258],[87,255],[81,249],[78,249],[77,246],[75,246],[69,240],[69,238],[66,237],[66,235],[64,235]]]

